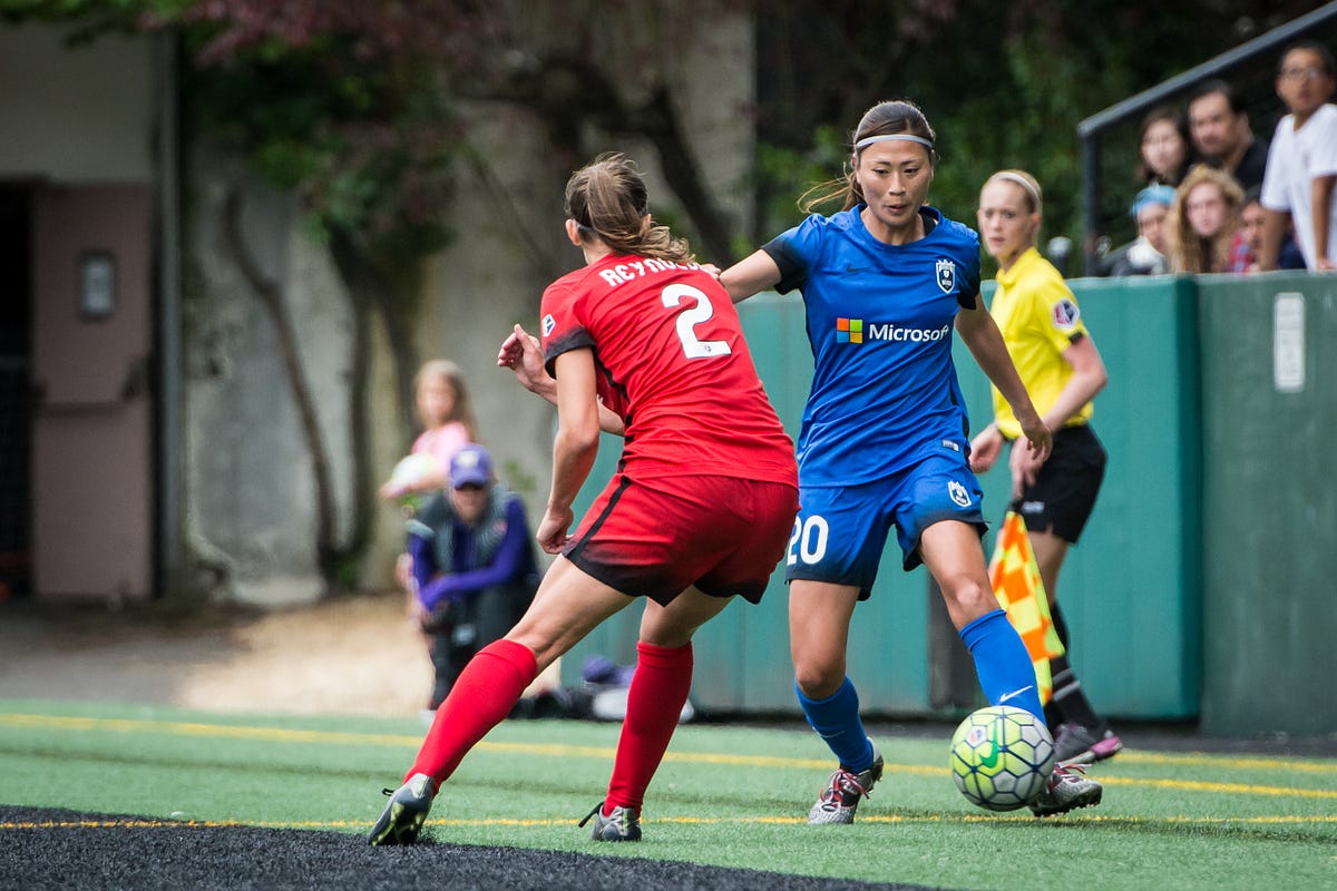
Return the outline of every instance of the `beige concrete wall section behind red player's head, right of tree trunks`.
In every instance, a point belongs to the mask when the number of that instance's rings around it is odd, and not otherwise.
[[[566,25],[545,21],[544,15],[572,12],[564,7],[532,11],[528,27],[536,40],[562,40],[571,33]],[[666,35],[647,32],[643,24],[638,28],[638,21],[628,16],[623,28],[610,25],[607,45],[592,52],[626,60],[631,83],[647,76],[636,61],[647,53],[667,68],[710,190],[733,214],[735,230],[747,231],[745,180],[753,164],[753,128],[743,111],[755,92],[750,19],[739,13],[694,31],[685,20],[671,40],[671,45],[683,48],[681,53],[666,52]],[[658,45],[651,45],[656,40]],[[531,522],[537,522],[551,481],[556,417],[547,403],[520,390],[509,371],[496,367],[496,351],[513,323],[535,330],[543,287],[582,263],[562,231],[562,187],[571,171],[558,171],[556,179],[536,190],[535,159],[551,152],[541,123],[491,103],[471,112],[469,139],[484,159],[483,167],[480,175],[461,182],[451,208],[459,240],[429,266],[418,350],[424,357],[452,358],[464,367],[484,443],[497,453],[508,482],[525,496]],[[591,142],[598,148],[578,163],[599,151],[627,152],[647,174],[651,210],[659,216],[681,218],[673,194],[658,176],[652,146],[598,136]]]

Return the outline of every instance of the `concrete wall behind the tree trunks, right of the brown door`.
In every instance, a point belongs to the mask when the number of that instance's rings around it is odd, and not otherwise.
[[[547,27],[541,11],[527,21],[535,40],[562,40],[568,33]],[[739,111],[753,95],[750,24],[746,16],[733,16],[698,37],[674,37],[691,47],[683,53],[656,52],[667,60],[663,64],[681,92],[686,128],[710,186],[738,215],[743,231],[749,203],[741,184],[751,164],[751,127]],[[614,35],[606,49],[627,59],[631,71],[636,53],[644,51],[638,40],[648,39]],[[504,103],[467,112],[477,160],[444,208],[456,239],[428,263],[416,347],[422,358],[445,357],[463,366],[483,441],[496,453],[507,482],[525,497],[531,524],[536,524],[551,478],[555,413],[523,391],[509,371],[496,367],[496,351],[513,323],[536,326],[543,287],[580,263],[562,232],[562,187],[570,170],[548,170],[551,164],[535,160],[550,160],[552,150],[541,122],[531,114]],[[651,179],[655,212],[675,212],[671,194],[655,176],[651,146],[594,135],[591,142],[598,146],[591,158],[606,150],[638,158]],[[197,584],[217,585],[219,596],[308,600],[318,594],[320,580],[313,486],[301,433],[269,321],[221,250],[221,188],[222,179],[237,172],[231,163],[206,154],[187,171],[193,183],[186,248],[191,259],[183,295],[187,548],[199,566]],[[550,175],[536,178],[536,170]],[[346,299],[324,251],[297,231],[294,208],[285,199],[253,188],[246,226],[266,271],[287,289],[308,379],[318,393],[338,500],[346,508],[352,496]],[[384,478],[401,456],[393,441],[389,347],[378,339],[377,349],[374,452],[377,476]],[[402,534],[398,510],[380,505],[362,584],[392,584]]]

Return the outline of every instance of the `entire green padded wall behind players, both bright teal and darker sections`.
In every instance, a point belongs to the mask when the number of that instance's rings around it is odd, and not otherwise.
[[[1337,485],[1326,468],[1337,442],[1337,275],[1071,285],[1110,370],[1094,421],[1108,474],[1060,582],[1091,700],[1111,716],[1201,713],[1222,736],[1337,732]],[[797,433],[810,375],[801,306],[759,295],[742,317]],[[960,345],[957,367],[979,426],[987,381]],[[604,442],[600,485],[618,448]],[[1005,473],[981,482],[996,522]],[[928,713],[928,580],[901,573],[894,552],[856,612],[850,672],[869,711]],[[568,683],[583,653],[632,661],[638,613],[578,648]],[[796,711],[779,573],[761,606],[735,604],[702,631],[697,664],[693,697],[705,708]]]

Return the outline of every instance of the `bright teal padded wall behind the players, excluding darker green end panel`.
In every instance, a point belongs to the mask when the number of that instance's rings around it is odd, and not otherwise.
[[[1110,715],[1197,713],[1198,476],[1197,329],[1189,279],[1075,282],[1083,313],[1110,369],[1096,430],[1111,453],[1099,508],[1063,574],[1075,636],[1074,661],[1098,707]],[[758,371],[797,435],[812,358],[797,299],[758,295],[741,307]],[[976,426],[988,383],[957,345],[957,369]],[[606,437],[583,510],[611,476],[619,442]],[[985,513],[1001,517],[1005,473],[985,484]],[[988,541],[992,545],[992,540]],[[894,541],[873,597],[850,633],[850,675],[869,711],[929,713],[928,576],[904,573]],[[794,712],[786,589],[777,570],[759,606],[735,602],[697,637],[693,700],[717,711]],[[635,659],[639,606],[606,622],[564,663],[567,683],[587,653]]]

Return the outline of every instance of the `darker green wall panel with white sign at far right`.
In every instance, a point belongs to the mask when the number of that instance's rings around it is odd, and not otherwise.
[[[1337,275],[1205,277],[1199,289],[1202,727],[1333,733]]]

